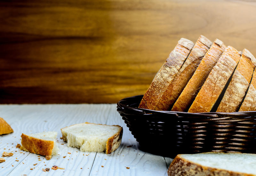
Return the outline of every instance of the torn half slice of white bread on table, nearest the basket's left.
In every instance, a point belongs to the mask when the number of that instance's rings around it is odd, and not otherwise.
[[[68,147],[80,148],[80,151],[115,151],[122,141],[123,128],[119,125],[83,123],[61,129],[63,140]]]

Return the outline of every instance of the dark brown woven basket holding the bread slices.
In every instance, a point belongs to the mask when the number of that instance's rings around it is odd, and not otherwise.
[[[138,108],[142,97],[118,101],[117,111],[144,151],[169,157],[202,152],[256,153],[256,111],[155,111]]]

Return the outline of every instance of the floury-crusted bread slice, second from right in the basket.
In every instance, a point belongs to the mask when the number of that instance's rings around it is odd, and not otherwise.
[[[256,59],[244,49],[234,75],[220,102],[217,112],[237,112],[252,79]]]

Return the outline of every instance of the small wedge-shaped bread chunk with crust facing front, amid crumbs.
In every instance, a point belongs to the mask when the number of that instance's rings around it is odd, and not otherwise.
[[[58,155],[59,146],[56,144],[57,132],[40,132],[21,135],[21,150],[43,156]]]

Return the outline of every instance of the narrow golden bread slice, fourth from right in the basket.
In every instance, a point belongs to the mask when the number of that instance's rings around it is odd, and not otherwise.
[[[172,111],[188,112],[188,109],[195,100],[197,93],[200,91],[204,81],[212,71],[212,68],[220,59],[225,48],[226,46],[219,39],[214,41],[211,48],[205,54],[201,63],[197,67],[194,75],[188,81],[188,84],[180,94],[178,100],[174,103]]]

